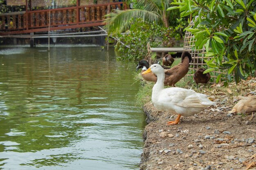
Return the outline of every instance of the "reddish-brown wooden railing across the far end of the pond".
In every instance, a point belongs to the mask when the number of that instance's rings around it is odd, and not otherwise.
[[[49,19],[51,27],[55,27],[51,28],[51,30],[100,26],[104,20],[104,15],[112,11],[112,9],[127,9],[127,5],[123,2],[113,2],[109,4],[28,11],[28,13],[25,11],[3,13],[0,14],[0,31],[5,32],[0,33],[0,35],[48,31]]]

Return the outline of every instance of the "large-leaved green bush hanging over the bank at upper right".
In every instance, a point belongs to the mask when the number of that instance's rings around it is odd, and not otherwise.
[[[180,9],[181,17],[193,14],[194,25],[186,31],[195,35],[195,45],[206,48],[209,68],[227,69],[221,77],[236,83],[256,74],[256,1],[255,0],[174,0],[179,5],[167,10]],[[226,82],[227,84],[227,82]]]

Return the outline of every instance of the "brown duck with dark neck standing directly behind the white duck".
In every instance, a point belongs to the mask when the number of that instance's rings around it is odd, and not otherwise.
[[[188,73],[189,62],[191,60],[192,60],[192,58],[191,58],[190,53],[187,51],[184,51],[182,53],[180,64],[164,71],[164,74],[165,74],[164,85],[175,87],[175,84],[180,79],[182,79],[182,77],[184,77],[186,75],[186,73]],[[139,61],[139,64],[137,65],[136,70],[138,71],[139,68],[142,68],[141,73],[143,73],[144,71],[146,71],[149,68],[148,62],[146,60]],[[157,77],[153,73],[142,74],[142,77],[146,81],[157,82]]]

